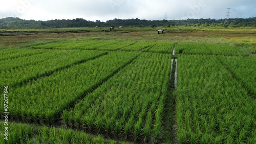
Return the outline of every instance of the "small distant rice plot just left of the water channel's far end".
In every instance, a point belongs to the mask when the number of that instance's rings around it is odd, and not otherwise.
[[[172,54],[174,49],[173,42],[159,42],[153,46],[148,52]]]

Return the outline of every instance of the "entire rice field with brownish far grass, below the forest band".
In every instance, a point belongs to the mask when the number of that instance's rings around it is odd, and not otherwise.
[[[0,30],[0,143],[256,142],[255,28],[75,30]]]

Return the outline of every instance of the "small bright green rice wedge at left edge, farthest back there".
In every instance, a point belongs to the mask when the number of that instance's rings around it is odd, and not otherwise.
[[[33,49],[3,49],[0,50],[0,60],[26,57],[36,54],[42,54],[45,50],[33,50]]]

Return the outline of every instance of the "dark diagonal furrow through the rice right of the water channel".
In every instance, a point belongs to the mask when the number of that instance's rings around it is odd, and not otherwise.
[[[221,65],[228,71],[228,73],[231,74],[232,78],[235,79],[238,83],[242,85],[242,87],[247,91],[247,94],[255,99],[256,93],[254,93],[250,88],[239,78],[237,77],[236,73],[234,73],[219,57],[216,57],[216,59],[221,63]]]

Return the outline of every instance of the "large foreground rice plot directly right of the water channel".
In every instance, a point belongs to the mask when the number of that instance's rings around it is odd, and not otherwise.
[[[215,56],[179,56],[176,94],[180,143],[255,142],[256,100]]]

